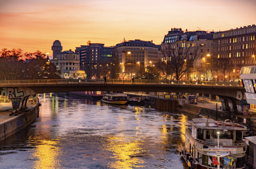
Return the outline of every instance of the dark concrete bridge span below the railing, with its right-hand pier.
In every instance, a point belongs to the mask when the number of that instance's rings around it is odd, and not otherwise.
[[[83,91],[123,91],[123,92],[169,92],[169,93],[200,93],[218,95],[222,102],[222,109],[236,111],[239,100],[244,99],[244,89],[242,86],[210,86],[210,85],[178,85],[178,84],[5,84],[1,90],[17,91],[29,90],[29,95],[40,93],[58,92],[83,92]],[[0,90],[0,92],[1,92]],[[7,96],[8,96],[7,91]],[[13,94],[15,94],[15,92]],[[25,98],[26,92],[19,98]],[[11,96],[13,96],[13,94]],[[2,94],[1,94],[2,95]],[[13,98],[13,97],[12,97]]]

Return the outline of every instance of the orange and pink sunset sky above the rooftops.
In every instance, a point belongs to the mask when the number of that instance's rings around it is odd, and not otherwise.
[[[49,52],[122,40],[161,44],[171,28],[225,31],[256,24],[255,0],[0,0],[0,50]]]

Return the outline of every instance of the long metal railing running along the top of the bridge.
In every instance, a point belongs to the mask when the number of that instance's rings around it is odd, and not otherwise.
[[[104,79],[55,79],[55,80],[6,80],[1,84],[64,84],[64,83],[100,83],[104,84]],[[132,84],[132,80],[108,79],[107,83]],[[133,80],[133,84],[178,84],[178,85],[201,85],[201,86],[242,86],[241,82],[218,82],[218,81],[176,81],[176,80]]]

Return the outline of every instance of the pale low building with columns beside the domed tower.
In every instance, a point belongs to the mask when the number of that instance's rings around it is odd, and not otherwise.
[[[80,58],[71,49],[60,52],[50,62],[56,65],[64,77],[84,77],[85,71],[80,70]]]

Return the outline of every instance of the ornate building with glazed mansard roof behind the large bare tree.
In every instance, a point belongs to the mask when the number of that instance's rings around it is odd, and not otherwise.
[[[186,45],[184,48],[191,46],[200,46],[199,55],[200,60],[194,63],[193,67],[206,64],[205,61],[209,57],[213,57],[213,32],[207,33],[206,31],[187,31],[184,32],[182,29],[171,29],[168,34],[165,35],[164,40],[161,44],[161,50],[177,49],[177,44]],[[176,46],[176,47],[175,47]],[[183,47],[182,47],[183,48]],[[161,60],[164,62],[163,56]],[[205,72],[207,71],[207,73]],[[190,78],[193,77],[193,78]],[[189,77],[182,77],[182,79],[193,79],[193,80],[212,80],[212,74],[209,70],[197,71],[190,74]]]

